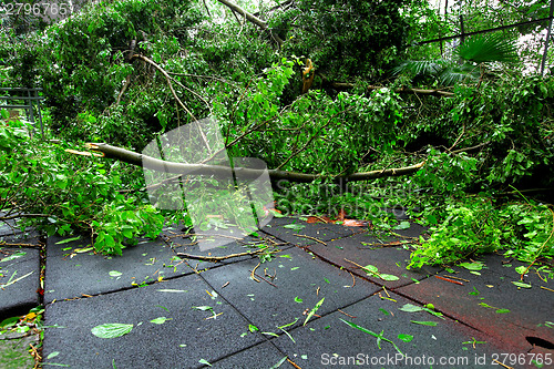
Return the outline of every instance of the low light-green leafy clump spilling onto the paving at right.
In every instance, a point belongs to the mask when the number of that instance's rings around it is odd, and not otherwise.
[[[451,264],[471,255],[506,249],[506,256],[535,263],[554,256],[554,213],[546,205],[509,203],[495,207],[475,196],[447,206],[445,219],[431,227],[409,267]]]

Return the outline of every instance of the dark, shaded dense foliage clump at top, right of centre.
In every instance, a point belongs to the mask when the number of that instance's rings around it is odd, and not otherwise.
[[[311,58],[326,78],[376,80],[406,48],[409,24],[401,11],[407,6],[421,3],[302,0],[271,22],[289,39],[283,51]]]

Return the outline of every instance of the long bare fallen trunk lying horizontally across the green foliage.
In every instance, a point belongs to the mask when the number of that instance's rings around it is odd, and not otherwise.
[[[184,163],[166,162],[140,153],[135,153],[133,151],[112,146],[105,143],[88,143],[86,147],[92,151],[101,153],[101,155],[104,157],[115,158],[129,164],[138,165],[144,168],[156,172],[165,172],[177,175],[178,174],[215,175],[226,178],[228,177],[230,171],[230,167],[224,165],[184,164]],[[69,151],[69,152],[79,154],[79,152],[74,151]],[[332,178],[335,181],[340,181],[343,183],[343,182],[355,182],[355,181],[368,181],[380,177],[401,176],[416,173],[424,164],[425,162],[423,161],[421,163],[400,168],[388,168],[382,171],[353,173],[342,176],[332,176]],[[247,178],[258,178],[260,175],[264,174],[264,171],[261,170],[235,167],[234,171],[235,172],[239,171],[240,176]],[[287,172],[279,170],[268,170],[267,172],[271,181],[290,181],[290,182],[309,183],[321,177],[320,174],[306,174],[306,173]]]

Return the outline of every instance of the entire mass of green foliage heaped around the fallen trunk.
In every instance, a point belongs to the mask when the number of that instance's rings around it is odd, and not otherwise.
[[[466,20],[479,18],[478,3],[468,3]],[[544,12],[527,6],[517,4],[525,17]],[[105,1],[35,33],[0,31],[2,85],[42,86],[48,135],[62,141],[1,126],[1,208],[37,215],[25,224],[49,234],[89,233],[98,250],[121,253],[136,236],[155,236],[162,215],[189,219],[148,205],[140,168],[63,148],[86,141],[141,151],[211,116],[232,158],[320,174],[311,184],[275,184],[283,212],[345,209],[398,229],[406,223],[382,208],[407,206],[431,226],[414,243],[413,267],[497,249],[530,263],[554,256],[552,197],[514,189],[554,188],[554,80],[523,74],[514,53],[515,38],[535,30],[469,38],[452,53],[442,43],[411,45],[458,30],[458,9],[439,16],[422,1],[286,2],[260,9],[267,30],[209,7]],[[481,21],[495,14],[482,12]],[[301,94],[306,58],[316,79]],[[402,93],[444,86],[453,96]],[[409,177],[349,184],[350,192],[334,181],[422,161]]]

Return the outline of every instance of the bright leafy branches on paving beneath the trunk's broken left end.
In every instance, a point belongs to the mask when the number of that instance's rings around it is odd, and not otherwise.
[[[0,124],[0,209],[22,216],[22,228],[85,233],[98,252],[121,254],[136,237],[157,236],[164,223],[145,199],[120,193],[122,166],[31,140],[19,122]]]

